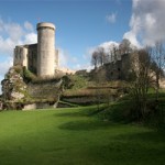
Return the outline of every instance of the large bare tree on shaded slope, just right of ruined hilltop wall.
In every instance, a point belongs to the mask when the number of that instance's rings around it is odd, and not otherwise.
[[[144,119],[146,114],[147,91],[151,82],[151,55],[146,50],[140,50],[134,54],[132,73],[134,80],[131,92],[135,103],[136,118]]]

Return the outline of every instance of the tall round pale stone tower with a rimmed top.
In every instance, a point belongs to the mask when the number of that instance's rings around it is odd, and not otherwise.
[[[47,22],[37,23],[37,76],[55,74],[55,25]]]

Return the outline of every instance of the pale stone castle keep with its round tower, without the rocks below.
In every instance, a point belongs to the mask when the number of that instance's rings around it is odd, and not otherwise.
[[[37,43],[18,45],[14,48],[13,65],[26,67],[38,77],[54,76],[58,68],[58,51],[55,48],[55,25],[37,23]]]

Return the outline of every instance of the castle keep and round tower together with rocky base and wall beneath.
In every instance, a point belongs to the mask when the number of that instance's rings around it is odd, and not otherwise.
[[[18,45],[14,48],[13,66],[9,68],[1,81],[2,109],[55,108],[57,106],[62,80],[56,78],[58,51],[55,47],[55,25],[42,22],[37,23],[36,30],[36,44]],[[38,81],[28,80],[25,70],[36,75]]]

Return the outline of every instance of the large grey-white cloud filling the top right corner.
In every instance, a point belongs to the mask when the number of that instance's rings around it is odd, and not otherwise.
[[[136,46],[153,45],[158,40],[165,40],[165,1],[132,1],[131,30],[123,37],[129,38]]]

